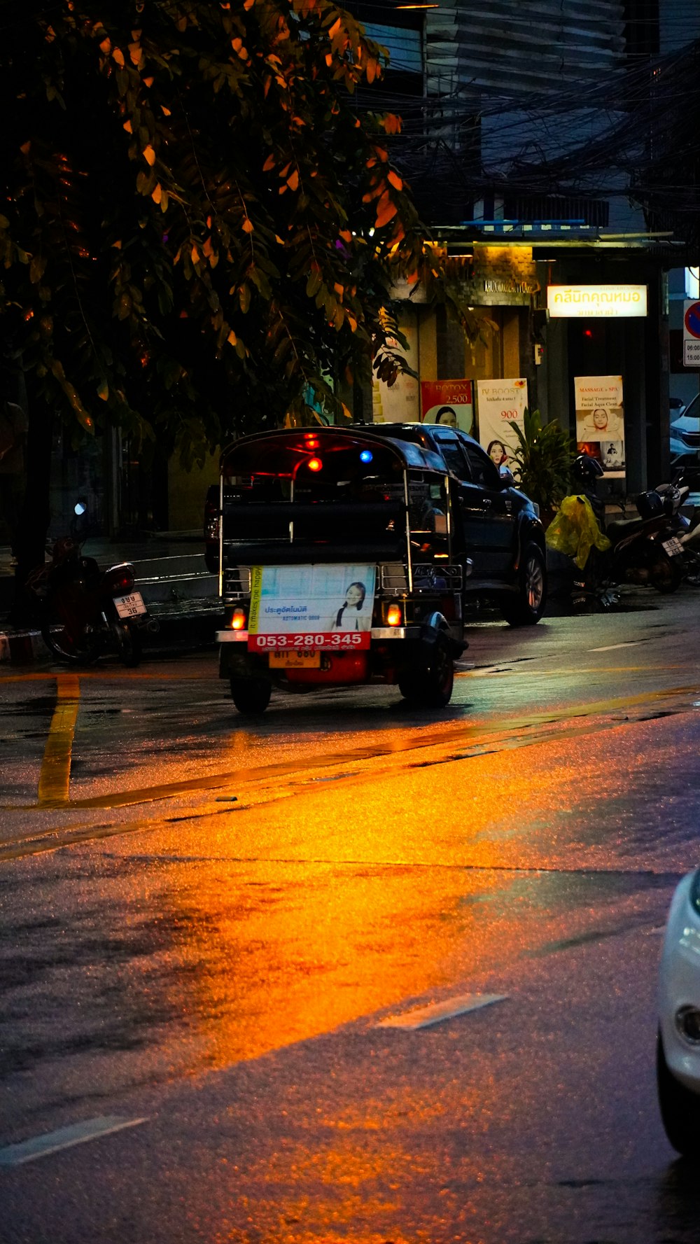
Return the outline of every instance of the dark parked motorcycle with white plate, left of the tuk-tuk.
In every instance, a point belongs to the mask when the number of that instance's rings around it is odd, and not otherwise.
[[[56,541],[51,561],[27,586],[40,602],[46,647],[67,664],[91,664],[116,652],[126,666],[138,666],[143,631],[158,631],[134,590],[133,566],[101,570],[70,536]]]

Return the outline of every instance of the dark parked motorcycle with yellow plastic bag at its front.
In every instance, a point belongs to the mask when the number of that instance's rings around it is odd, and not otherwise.
[[[685,575],[681,527],[675,516],[686,494],[675,484],[660,485],[637,498],[637,518],[627,518],[623,509],[623,518],[606,524],[604,506],[596,494],[602,474],[603,468],[594,458],[579,454],[572,478],[581,485],[581,494],[564,498],[560,515],[547,532],[547,544],[563,551],[567,522],[572,518],[582,518],[569,503],[576,503],[578,496],[581,505],[588,503],[588,529],[594,519],[597,534],[588,530],[583,555],[566,550],[572,557],[578,557],[574,562],[578,572],[574,572],[572,586],[574,608],[583,608],[591,601],[603,608],[614,605],[617,588],[623,583],[650,586],[663,593],[675,592]]]

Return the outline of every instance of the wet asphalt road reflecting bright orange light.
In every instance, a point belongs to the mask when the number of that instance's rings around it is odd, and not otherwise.
[[[475,627],[439,714],[0,673],[2,1244],[698,1239],[653,1061],[700,597],[635,603]]]

